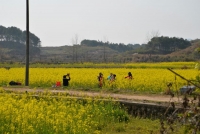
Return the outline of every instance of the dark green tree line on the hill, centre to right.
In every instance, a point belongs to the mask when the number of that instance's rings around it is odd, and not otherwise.
[[[89,47],[109,47],[118,52],[148,53],[148,54],[169,54],[174,51],[185,49],[191,46],[191,42],[177,37],[153,37],[147,44],[123,44],[109,43],[96,40],[82,40],[81,45]]]

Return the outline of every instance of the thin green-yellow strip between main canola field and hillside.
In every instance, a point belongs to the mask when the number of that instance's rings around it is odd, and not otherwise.
[[[194,68],[195,62],[158,62],[158,63],[69,63],[29,65],[30,68]],[[0,63],[0,67],[25,67],[24,63]]]

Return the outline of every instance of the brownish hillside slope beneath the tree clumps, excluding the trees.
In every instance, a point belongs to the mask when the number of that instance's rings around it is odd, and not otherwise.
[[[30,62],[73,63],[73,62],[161,62],[161,61],[195,61],[200,54],[200,40],[191,41],[191,46],[170,54],[142,54],[135,48],[119,52],[109,46],[60,46],[30,47]],[[124,47],[124,46],[123,46]],[[144,46],[141,46],[141,48]],[[16,42],[0,41],[0,62],[25,62],[25,45]]]

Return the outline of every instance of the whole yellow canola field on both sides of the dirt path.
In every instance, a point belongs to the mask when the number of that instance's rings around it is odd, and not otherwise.
[[[183,65],[189,66],[181,69]],[[69,87],[65,89],[79,90],[120,90],[140,93],[162,93],[169,82],[173,90],[179,89],[187,82],[167,67],[187,79],[195,79],[198,70],[192,67],[194,63],[142,64],[143,67],[117,68],[65,68],[38,67],[30,68],[29,86],[33,88],[52,88],[56,82],[62,83],[62,76],[70,73]],[[113,66],[113,64],[111,65]],[[166,67],[167,66],[167,67]],[[0,86],[9,86],[10,81],[25,82],[25,68],[0,68]],[[97,76],[104,75],[104,85],[98,87]],[[125,79],[128,72],[133,74],[132,80]],[[116,80],[110,83],[107,76],[116,74]],[[45,93],[15,94],[7,93],[0,87],[0,133],[20,134],[129,134],[129,133],[160,133],[159,120],[130,117],[118,103],[107,98],[86,98],[85,100],[71,98],[67,94],[54,96]],[[182,134],[184,129],[173,133]]]

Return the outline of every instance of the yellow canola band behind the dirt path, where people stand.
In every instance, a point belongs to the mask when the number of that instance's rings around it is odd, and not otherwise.
[[[11,68],[10,70],[0,68],[0,71],[0,86],[9,86],[8,83],[12,80],[24,85],[24,68]],[[194,80],[198,75],[196,69],[174,69],[174,71],[189,80]],[[71,80],[68,88],[99,90],[97,80],[99,72],[104,75],[103,89],[105,90],[158,93],[164,92],[169,82],[173,83],[173,90],[178,90],[183,85],[187,85],[185,80],[162,68],[30,68],[29,86],[51,87],[57,81],[62,83],[62,76],[70,73]],[[132,72],[133,80],[125,79],[128,72]],[[113,83],[106,80],[110,73],[116,74],[116,80]]]

